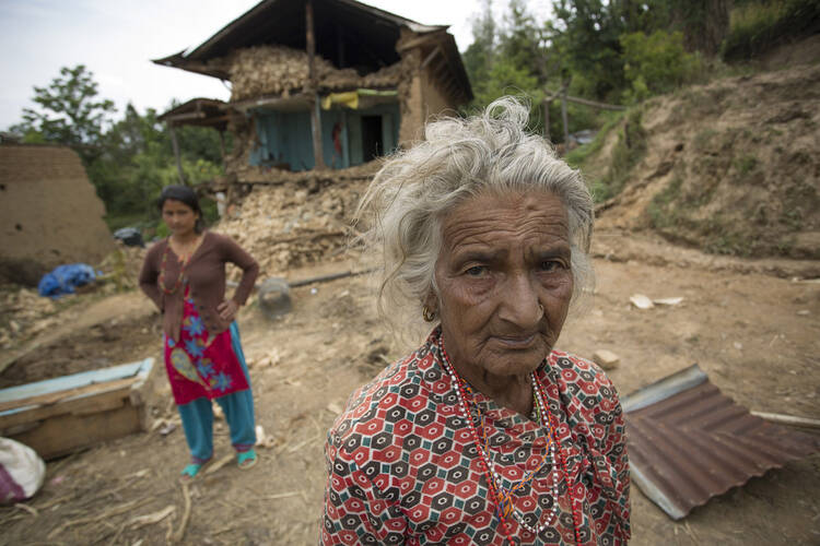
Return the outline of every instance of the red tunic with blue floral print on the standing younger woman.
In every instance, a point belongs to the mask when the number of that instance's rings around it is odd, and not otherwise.
[[[179,341],[165,336],[165,369],[177,404],[248,389],[231,343],[231,331],[210,335],[186,285]]]

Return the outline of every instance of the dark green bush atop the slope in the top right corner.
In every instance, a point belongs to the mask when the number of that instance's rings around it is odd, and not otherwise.
[[[788,39],[820,32],[817,0],[752,1],[731,11],[723,58],[748,60]]]

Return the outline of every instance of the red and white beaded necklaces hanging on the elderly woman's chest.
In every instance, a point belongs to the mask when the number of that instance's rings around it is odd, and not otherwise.
[[[453,380],[453,383],[456,385],[456,394],[458,395],[458,403],[459,407],[461,408],[461,412],[465,414],[465,420],[469,424],[470,431],[472,432],[473,440],[476,442],[476,447],[478,448],[478,452],[480,455],[479,464],[482,466],[482,470],[484,474],[487,475],[487,484],[488,488],[490,489],[490,496],[495,501],[495,512],[499,517],[499,520],[502,522],[502,533],[504,533],[504,536],[506,539],[512,544],[512,537],[509,536],[509,533],[506,531],[507,524],[504,523],[504,520],[509,517],[509,514],[513,514],[513,518],[527,531],[530,533],[538,535],[547,529],[547,526],[554,521],[554,519],[558,517],[558,464],[554,464],[560,459],[562,470],[564,471],[564,475],[569,476],[566,474],[566,464],[564,461],[564,458],[562,456],[561,449],[559,446],[558,453],[559,456],[555,456],[555,444],[558,443],[558,436],[555,434],[555,423],[552,417],[552,414],[550,414],[547,411],[547,405],[543,402],[543,393],[541,392],[540,383],[538,379],[536,378],[534,372],[530,372],[530,381],[532,383],[532,391],[534,391],[534,405],[536,410],[536,416],[537,420],[536,423],[544,424],[548,427],[548,439],[549,444],[547,449],[544,450],[544,455],[541,458],[541,461],[539,464],[529,473],[526,473],[524,478],[522,478],[519,482],[513,483],[513,487],[507,490],[502,486],[501,483],[501,475],[499,474],[497,470],[495,468],[495,464],[493,463],[492,459],[490,458],[490,450],[489,450],[489,441],[487,438],[487,427],[484,426],[484,416],[481,413],[481,408],[478,406],[478,404],[475,404],[476,412],[478,413],[479,419],[480,419],[480,427],[481,432],[483,436],[483,443],[481,441],[481,438],[479,437],[478,430],[476,430],[476,424],[473,423],[472,414],[469,411],[468,405],[468,399],[467,393],[469,392],[471,397],[475,399],[472,389],[467,383],[466,380],[464,380],[456,369],[453,367],[453,365],[449,361],[449,356],[447,355],[447,352],[444,348],[444,341],[443,335],[440,335],[438,337],[438,351],[442,355],[442,364],[444,366],[444,369],[447,371],[447,373],[450,376],[450,379]],[[543,467],[543,465],[547,463],[547,458],[549,458],[553,461],[552,464],[552,510],[550,511],[548,518],[546,521],[541,522],[537,526],[531,526],[528,523],[524,521],[524,517],[520,514],[520,512],[515,508],[513,505],[513,494],[520,489],[522,487],[529,484],[535,475]],[[575,538],[578,541],[578,520],[575,514],[575,505],[573,503],[573,523],[575,526]]]

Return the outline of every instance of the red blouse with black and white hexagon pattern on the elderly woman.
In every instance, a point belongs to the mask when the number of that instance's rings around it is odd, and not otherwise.
[[[563,464],[551,458],[542,464],[550,443],[544,427],[481,393],[471,401],[518,518],[538,527],[558,502],[554,520],[536,534],[497,514],[456,385],[442,367],[440,335],[434,331],[354,392],[330,429],[321,543],[501,545],[508,536],[522,545],[625,544],[626,439],[618,394],[604,372],[558,351],[536,372]]]

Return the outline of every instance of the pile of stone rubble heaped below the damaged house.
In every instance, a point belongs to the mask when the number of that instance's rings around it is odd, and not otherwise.
[[[280,183],[253,186],[239,206],[216,229],[256,258],[260,277],[286,276],[292,268],[348,258],[350,225],[370,183],[359,169],[311,174],[283,173]],[[237,281],[232,268],[229,277]]]

